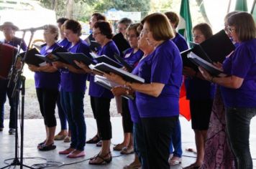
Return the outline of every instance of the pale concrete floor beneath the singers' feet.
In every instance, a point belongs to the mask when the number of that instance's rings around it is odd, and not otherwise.
[[[122,135],[122,122],[120,117],[111,117],[113,138],[111,140],[112,145],[121,143],[123,139]],[[180,117],[180,123],[182,128],[182,141],[183,141],[183,161],[180,165],[172,166],[173,169],[183,168],[195,160],[195,154],[186,152],[186,148],[195,148],[193,131],[191,130],[191,122],[188,122],[185,118]],[[4,122],[5,126],[8,126],[8,120]],[[58,123],[58,130],[60,125]],[[93,137],[96,133],[96,122],[93,118],[86,118],[86,127],[87,127],[87,140],[88,138]],[[127,165],[132,162],[134,155],[122,155],[116,151],[112,151],[112,155],[118,156],[113,158],[112,162],[108,165],[93,166],[88,165],[88,160],[93,155],[99,153],[100,148],[96,148],[95,145],[87,144],[85,147],[86,156],[84,158],[70,159],[66,158],[65,155],[59,155],[58,151],[63,150],[69,147],[69,143],[63,143],[63,141],[55,141],[57,148],[50,152],[41,152],[37,150],[37,143],[42,142],[45,137],[44,125],[42,119],[36,120],[24,120],[24,158],[45,158],[49,161],[57,161],[62,164],[75,163],[82,161],[81,163],[73,165],[64,165],[61,168],[123,168],[124,165]],[[4,128],[3,132],[0,132],[0,168],[6,166],[4,160],[9,158],[14,158],[14,135],[8,134],[8,127]],[[251,135],[250,135],[250,145],[252,158],[256,158],[256,118],[252,120],[251,124]],[[11,163],[12,160],[8,160],[7,163]],[[24,159],[24,164],[33,165],[35,163],[45,163],[45,160],[40,159]],[[254,160],[254,165],[256,168],[256,160]],[[12,167],[13,168],[13,167]],[[17,167],[19,168],[19,167]]]

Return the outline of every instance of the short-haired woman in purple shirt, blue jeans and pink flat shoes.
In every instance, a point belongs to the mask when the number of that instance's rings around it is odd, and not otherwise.
[[[89,56],[88,45],[80,39],[81,24],[78,21],[70,19],[65,21],[63,26],[65,37],[71,42],[68,51],[72,53],[83,53]],[[70,148],[59,153],[67,155],[68,158],[78,158],[85,155],[86,122],[83,116],[83,97],[86,90],[87,74],[70,64],[54,62],[53,65],[61,70],[60,100],[68,117],[68,125],[71,129]]]

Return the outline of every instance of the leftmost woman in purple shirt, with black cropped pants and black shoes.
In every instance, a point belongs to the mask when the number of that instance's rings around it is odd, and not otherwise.
[[[58,39],[58,27],[47,25],[44,31],[44,39],[46,45],[40,50],[40,54],[47,55],[54,49],[60,47],[56,42]],[[37,91],[37,99],[40,105],[40,112],[45,121],[45,129],[47,137],[40,143],[38,150],[47,151],[56,148],[54,145],[54,135],[56,129],[55,105],[59,95],[60,72],[51,64],[41,67],[29,65],[29,69],[35,72],[35,87]],[[49,79],[51,80],[49,82]]]

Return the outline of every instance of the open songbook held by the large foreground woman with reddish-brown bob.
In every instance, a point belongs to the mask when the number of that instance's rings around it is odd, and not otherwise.
[[[141,84],[145,82],[145,79],[143,79],[142,77],[138,77],[132,73],[124,71],[123,69],[113,67],[106,63],[99,63],[96,65],[90,64],[89,67],[90,67],[90,69],[92,69],[96,72],[99,72],[99,74],[104,74],[104,72],[105,73],[113,72],[114,74],[118,74],[124,80],[126,80],[128,82],[137,82],[137,83],[141,83]]]

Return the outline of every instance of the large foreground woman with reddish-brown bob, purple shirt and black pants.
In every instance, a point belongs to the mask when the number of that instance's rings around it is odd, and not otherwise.
[[[119,84],[137,91],[136,103],[142,120],[148,168],[167,169],[170,168],[170,135],[179,115],[182,60],[178,48],[170,40],[173,29],[165,15],[150,14],[142,24],[147,43],[155,47],[139,69],[138,74],[145,79],[145,84],[124,80]],[[110,75],[109,78],[114,80],[115,75]]]

